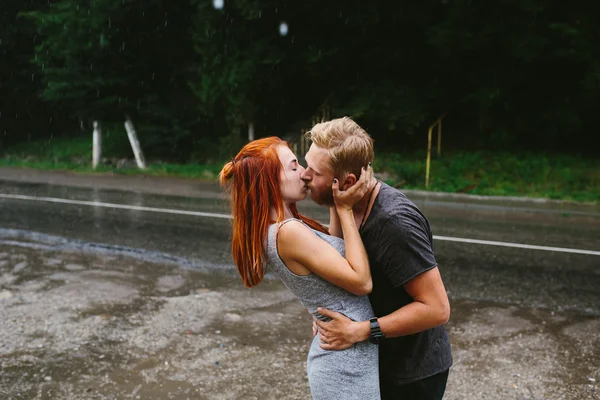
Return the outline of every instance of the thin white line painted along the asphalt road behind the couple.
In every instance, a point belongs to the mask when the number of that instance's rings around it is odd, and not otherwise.
[[[147,211],[147,212],[156,212],[156,213],[165,213],[165,214],[192,215],[195,217],[231,219],[231,215],[228,215],[228,214],[218,214],[218,213],[188,211],[188,210],[175,210],[175,209],[169,209],[169,208],[142,207],[142,206],[132,206],[132,205],[127,205],[127,204],[116,204],[116,203],[102,203],[99,201],[70,200],[70,199],[61,199],[61,198],[56,198],[56,197],[38,197],[38,196],[25,196],[25,195],[19,195],[19,194],[0,193],[0,198],[11,199],[11,200],[42,201],[42,202],[48,202],[48,203],[74,204],[74,205],[92,206],[92,207],[118,208],[118,209],[123,209],[123,210]],[[570,249],[570,248],[565,248],[565,247],[551,247],[551,246],[536,246],[536,245],[523,244],[523,243],[496,242],[496,241],[492,241],[492,240],[479,240],[479,239],[458,238],[458,237],[439,236],[439,235],[434,235],[433,238],[435,240],[442,240],[442,241],[448,241],[448,242],[460,242],[460,243],[469,243],[469,244],[481,244],[481,245],[486,245],[486,246],[501,246],[501,247],[512,247],[512,248],[528,249],[528,250],[553,251],[553,252],[557,252],[557,253],[575,253],[575,254],[600,256],[600,251],[594,251],[594,250],[580,250],[580,249]]]

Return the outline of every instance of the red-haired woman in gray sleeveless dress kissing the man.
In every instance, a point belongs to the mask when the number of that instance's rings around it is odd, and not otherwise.
[[[366,296],[371,273],[346,198],[350,191],[364,190],[372,172],[363,173],[348,192],[339,192],[334,180],[342,240],[298,212],[296,202],[307,195],[300,179],[303,170],[288,144],[277,137],[248,143],[225,164],[219,181],[231,189],[233,260],[247,287],[258,285],[268,268],[315,318],[324,319],[317,307],[325,307],[368,320],[373,317]],[[380,398],[378,349],[368,341],[329,351],[321,349],[316,335],[307,373],[313,399]]]

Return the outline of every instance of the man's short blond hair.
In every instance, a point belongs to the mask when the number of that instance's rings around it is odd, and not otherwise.
[[[336,177],[352,173],[358,178],[361,167],[373,161],[373,139],[349,117],[318,123],[306,135],[328,151],[329,166]]]

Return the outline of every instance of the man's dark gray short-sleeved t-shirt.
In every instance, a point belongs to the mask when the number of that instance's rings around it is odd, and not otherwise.
[[[403,288],[406,282],[437,266],[431,228],[412,201],[382,183],[360,235],[373,277],[369,299],[375,315],[383,317],[413,301]],[[444,372],[451,365],[450,340],[443,326],[384,339],[380,344],[382,384],[410,383]]]

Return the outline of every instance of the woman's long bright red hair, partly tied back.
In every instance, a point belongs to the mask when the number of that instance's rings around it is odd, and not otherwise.
[[[254,140],[225,164],[219,174],[221,186],[231,191],[231,252],[246,287],[256,286],[263,279],[269,225],[284,218],[279,146],[289,148],[286,141],[275,136]],[[277,211],[277,221],[271,220],[272,209]],[[328,233],[323,225],[301,215],[295,204],[290,211],[311,228]]]

